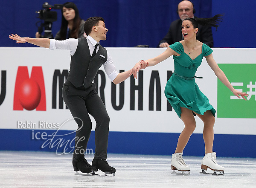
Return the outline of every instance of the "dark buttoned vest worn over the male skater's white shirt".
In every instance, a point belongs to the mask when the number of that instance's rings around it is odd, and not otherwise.
[[[98,52],[91,58],[87,39],[79,38],[76,52],[71,56],[67,80],[75,87],[90,87],[99,67],[107,61],[107,55],[107,50],[99,45]]]

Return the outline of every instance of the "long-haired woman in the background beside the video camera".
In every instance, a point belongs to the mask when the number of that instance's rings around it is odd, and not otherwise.
[[[84,32],[85,21],[80,18],[77,6],[74,3],[64,3],[61,13],[61,29],[57,32],[54,39],[65,40],[68,38],[87,37],[87,35]],[[41,38],[41,35],[38,32],[36,32],[35,37]]]

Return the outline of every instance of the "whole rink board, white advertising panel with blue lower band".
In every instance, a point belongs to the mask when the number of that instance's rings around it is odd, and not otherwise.
[[[137,61],[152,58],[165,51],[165,49],[157,48],[107,49],[118,71],[127,71]],[[231,99],[233,97],[231,92],[219,89],[223,87],[209,68],[205,58],[196,73],[197,76],[203,77],[203,79],[196,79],[199,88],[207,95],[210,104],[217,111],[214,147],[220,156],[240,157],[242,153],[241,156],[244,157],[256,157],[256,151],[247,148],[256,141],[254,88],[256,75],[250,73],[256,72],[255,54],[256,49],[213,49],[215,61],[220,67],[225,64],[224,72],[229,79],[231,78],[230,82],[234,84],[234,87],[250,92],[248,101]],[[59,133],[67,131],[68,135],[72,135],[71,133],[77,128],[70,111],[65,108],[63,101],[58,97],[61,79],[64,79],[64,72],[68,72],[70,66],[69,52],[38,47],[0,48],[0,58],[0,150],[56,151],[56,148],[42,148],[42,144],[56,131]],[[234,64],[237,66],[232,68]],[[20,73],[20,67],[27,70],[28,76]],[[25,80],[22,76],[31,79],[40,77],[35,69],[41,69],[43,75],[44,90],[42,91],[42,88],[40,90],[40,104],[45,103],[45,108],[39,109],[38,105],[34,110],[25,110],[19,101],[23,100],[19,98],[19,91],[15,94],[17,80],[20,78]],[[168,106],[164,96],[166,81],[173,70],[171,57],[155,67],[140,71],[137,80],[128,78],[123,85],[113,87],[103,66],[101,67],[97,77],[98,93],[105,102],[111,119],[108,152],[160,155],[173,153],[179,133],[183,130],[182,121]],[[18,73],[22,75],[18,77],[19,79],[17,79]],[[62,74],[62,77],[55,77],[58,73]],[[233,78],[232,74],[236,76]],[[42,83],[38,83],[40,84]],[[44,93],[45,99],[42,99]],[[229,107],[229,105],[233,106]],[[218,109],[220,110],[219,116]],[[230,117],[234,113],[235,118]],[[186,155],[198,156],[204,153],[203,123],[198,117],[196,121],[195,132],[184,150]],[[88,148],[94,150],[95,121],[93,118],[92,124],[93,132]],[[55,137],[55,142],[52,140],[52,143],[57,145],[60,138]],[[71,141],[72,136],[69,139]],[[62,139],[64,140],[68,139]],[[236,148],[239,148],[239,152]]]

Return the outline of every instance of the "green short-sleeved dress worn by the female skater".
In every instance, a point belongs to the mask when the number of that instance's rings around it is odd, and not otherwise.
[[[173,55],[175,70],[167,81],[164,91],[172,108],[179,117],[181,114],[180,107],[188,108],[201,115],[210,110],[212,115],[215,116],[216,110],[209,104],[207,96],[199,90],[195,83],[195,72],[201,65],[203,57],[210,55],[212,49],[203,43],[202,53],[192,60],[184,52],[181,43],[176,42],[169,47],[180,54],[179,56]]]

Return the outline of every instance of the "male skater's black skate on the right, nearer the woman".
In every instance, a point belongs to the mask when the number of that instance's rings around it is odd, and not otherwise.
[[[103,176],[106,176],[106,177],[115,176],[116,169],[108,165],[108,162],[106,159],[93,159],[92,174],[100,176],[99,174],[95,174],[95,172],[97,172],[98,169],[101,170],[102,172],[105,172]]]

